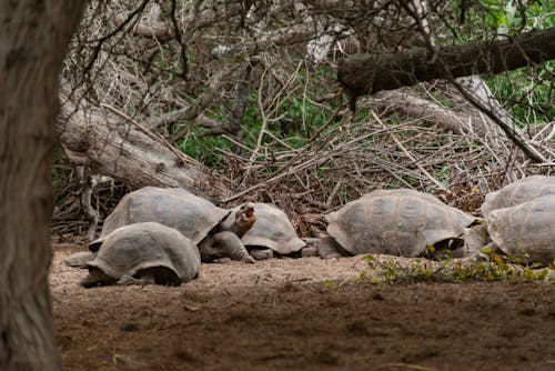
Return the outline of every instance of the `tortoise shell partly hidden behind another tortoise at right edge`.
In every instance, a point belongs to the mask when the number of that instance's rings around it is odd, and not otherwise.
[[[532,176],[487,193],[481,211],[487,218],[493,210],[511,208],[547,194],[555,194],[555,177]]]

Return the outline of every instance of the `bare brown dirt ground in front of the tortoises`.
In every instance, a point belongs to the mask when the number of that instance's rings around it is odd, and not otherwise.
[[[202,264],[198,279],[83,289],[54,247],[67,370],[555,370],[555,282],[371,285],[361,257]]]

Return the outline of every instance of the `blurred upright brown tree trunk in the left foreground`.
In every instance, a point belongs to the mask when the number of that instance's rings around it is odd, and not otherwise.
[[[58,74],[85,1],[0,0],[0,370],[61,370],[48,284]]]

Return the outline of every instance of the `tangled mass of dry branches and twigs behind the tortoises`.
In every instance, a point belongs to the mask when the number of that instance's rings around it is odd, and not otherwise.
[[[302,234],[379,188],[432,192],[474,211],[490,190],[552,171],[548,66],[521,76],[528,90],[514,74],[437,80],[364,98],[355,116],[334,77],[352,53],[497,37],[491,9],[461,12],[448,1],[418,0],[99,1],[63,78],[84,87],[91,104],[122,112],[211,167],[231,191],[222,203],[276,203]],[[545,161],[531,163],[484,110]]]

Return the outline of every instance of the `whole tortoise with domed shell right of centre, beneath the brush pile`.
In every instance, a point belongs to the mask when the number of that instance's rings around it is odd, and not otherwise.
[[[366,253],[418,257],[435,249],[464,251],[464,234],[475,218],[431,194],[408,189],[375,190],[326,215],[329,237],[320,255]],[[456,242],[456,243],[453,243]]]

